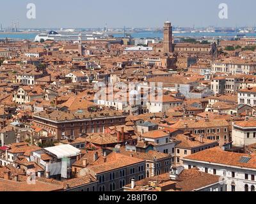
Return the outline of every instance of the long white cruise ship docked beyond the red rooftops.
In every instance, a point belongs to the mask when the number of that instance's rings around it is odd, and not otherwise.
[[[104,40],[108,38],[108,34],[104,33],[92,33],[92,34],[82,34],[83,40]],[[50,31],[49,33],[38,34],[35,37],[35,41],[40,41],[41,39],[53,40],[53,41],[76,41],[78,39],[78,34],[58,34],[56,31]]]

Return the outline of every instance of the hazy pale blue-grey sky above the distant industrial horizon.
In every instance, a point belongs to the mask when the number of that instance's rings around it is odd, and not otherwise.
[[[36,19],[26,18],[35,3]],[[228,5],[228,19],[218,17],[219,4]],[[162,27],[254,26],[255,0],[8,0],[1,2],[3,27],[19,18],[20,27]]]

